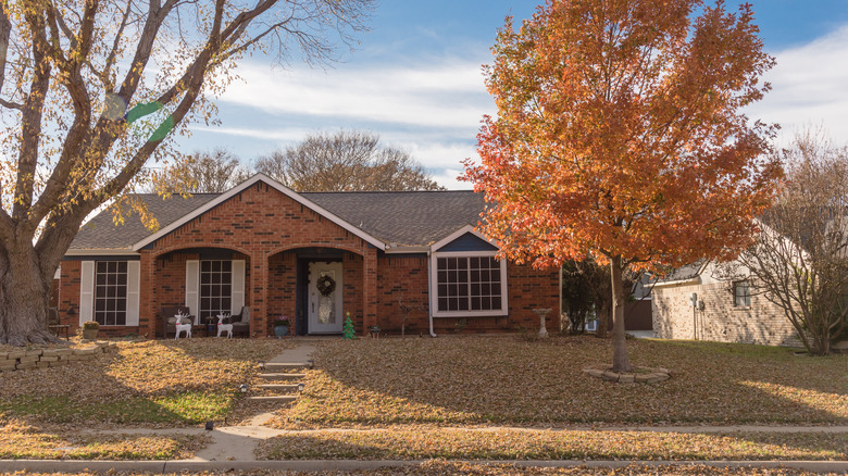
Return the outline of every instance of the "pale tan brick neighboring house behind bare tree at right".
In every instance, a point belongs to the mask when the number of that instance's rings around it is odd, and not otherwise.
[[[752,293],[748,280],[728,283],[715,275],[714,264],[702,261],[657,283],[651,291],[654,336],[800,347],[783,309]]]

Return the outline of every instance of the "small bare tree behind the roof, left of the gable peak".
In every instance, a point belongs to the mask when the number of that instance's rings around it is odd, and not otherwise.
[[[238,156],[219,148],[185,155],[153,181],[157,189],[172,193],[214,193],[226,191],[249,176]]]

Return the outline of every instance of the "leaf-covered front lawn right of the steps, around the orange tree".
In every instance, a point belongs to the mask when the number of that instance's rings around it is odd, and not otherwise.
[[[669,368],[672,379],[620,385],[583,375],[612,355],[609,340],[593,337],[323,342],[303,397],[270,424],[848,423],[846,355],[663,340],[628,349],[634,364]]]

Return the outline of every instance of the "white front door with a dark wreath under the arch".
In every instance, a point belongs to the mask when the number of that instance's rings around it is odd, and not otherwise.
[[[309,263],[309,333],[341,333],[341,263]]]

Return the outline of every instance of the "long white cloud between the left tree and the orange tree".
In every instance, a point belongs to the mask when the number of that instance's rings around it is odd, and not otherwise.
[[[245,80],[230,85],[221,101],[275,115],[344,117],[389,127],[457,128],[473,137],[481,115],[492,109],[479,64],[472,61],[273,73],[246,64],[238,74]]]

